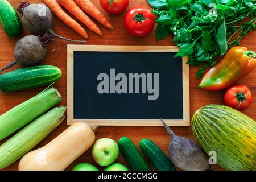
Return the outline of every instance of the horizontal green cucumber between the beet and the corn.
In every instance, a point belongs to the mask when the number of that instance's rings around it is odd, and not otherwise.
[[[61,70],[50,65],[16,69],[0,75],[0,90],[15,92],[49,85],[59,80]]]

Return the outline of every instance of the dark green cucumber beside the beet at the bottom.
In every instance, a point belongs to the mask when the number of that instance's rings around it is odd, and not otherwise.
[[[142,139],[139,142],[143,154],[150,160],[158,171],[176,171],[174,164],[166,154],[151,140]]]

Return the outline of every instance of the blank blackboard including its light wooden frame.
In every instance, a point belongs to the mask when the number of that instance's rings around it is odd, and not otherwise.
[[[177,50],[68,45],[68,125],[188,126],[188,66]]]

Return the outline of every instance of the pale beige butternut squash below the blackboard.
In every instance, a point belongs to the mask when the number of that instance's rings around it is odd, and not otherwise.
[[[92,146],[95,129],[84,122],[71,125],[46,146],[24,155],[19,171],[63,171]]]

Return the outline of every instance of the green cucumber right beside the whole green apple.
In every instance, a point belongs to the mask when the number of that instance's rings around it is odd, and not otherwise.
[[[151,171],[141,152],[129,138],[120,138],[118,147],[132,171]]]

